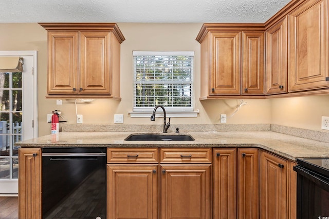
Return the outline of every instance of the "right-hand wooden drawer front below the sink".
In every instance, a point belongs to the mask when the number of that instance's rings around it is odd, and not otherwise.
[[[161,163],[211,163],[210,148],[160,148]]]

